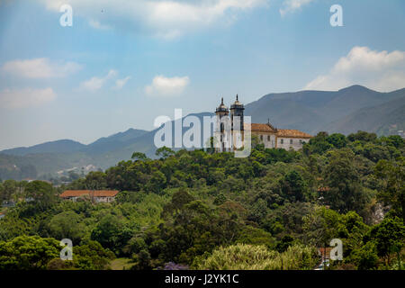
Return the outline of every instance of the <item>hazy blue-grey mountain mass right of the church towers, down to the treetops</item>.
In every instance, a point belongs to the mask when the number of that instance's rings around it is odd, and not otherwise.
[[[266,94],[246,106],[246,114],[253,122],[270,121],[279,128],[298,129],[315,135],[320,130],[344,134],[367,130],[388,134],[403,130],[405,121],[405,88],[391,93],[380,93],[361,85],[353,85],[337,92],[300,91],[296,93]],[[401,117],[392,118],[392,112]],[[368,113],[370,112],[370,113]],[[375,114],[378,112],[378,115]],[[367,117],[360,114],[367,114]],[[392,125],[397,129],[392,130]]]

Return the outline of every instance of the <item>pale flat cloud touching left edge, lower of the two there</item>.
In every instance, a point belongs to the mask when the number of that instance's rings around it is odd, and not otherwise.
[[[56,98],[52,88],[4,89],[0,91],[0,108],[23,108],[48,103]]]

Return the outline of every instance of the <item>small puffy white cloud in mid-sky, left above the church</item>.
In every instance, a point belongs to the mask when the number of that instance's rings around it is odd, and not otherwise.
[[[149,95],[173,96],[181,94],[189,82],[188,76],[172,78],[156,76],[152,84],[145,87],[145,92]]]

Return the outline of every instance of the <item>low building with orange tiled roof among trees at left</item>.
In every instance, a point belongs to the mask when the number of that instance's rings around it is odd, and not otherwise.
[[[91,202],[113,202],[117,194],[116,190],[67,190],[59,197],[74,202],[80,198],[89,199]]]

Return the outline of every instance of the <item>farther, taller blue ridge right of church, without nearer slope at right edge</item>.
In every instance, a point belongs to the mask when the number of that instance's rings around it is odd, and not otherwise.
[[[361,85],[353,85],[336,92],[300,91],[296,93],[266,94],[259,100],[246,105],[245,113],[252,116],[253,122],[266,122],[267,119],[279,128],[298,129],[316,134],[320,130],[345,133],[338,123],[348,121],[360,110],[398,100],[404,103],[405,88],[391,93],[380,93]],[[403,119],[402,115],[402,119]],[[369,115],[368,121],[380,121]],[[344,125],[344,124],[342,124]],[[361,130],[362,121],[346,124],[350,130]]]

